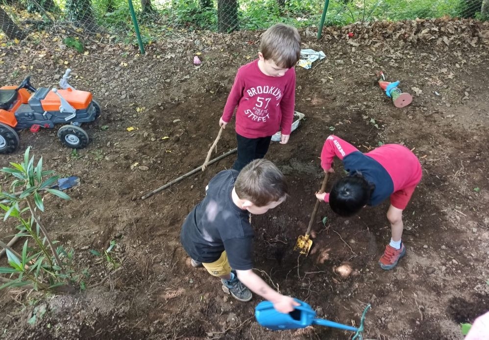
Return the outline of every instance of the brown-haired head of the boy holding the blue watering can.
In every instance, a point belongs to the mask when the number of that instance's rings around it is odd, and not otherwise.
[[[289,194],[284,174],[263,158],[255,159],[241,170],[234,190],[239,198],[247,199],[257,207],[278,202]]]

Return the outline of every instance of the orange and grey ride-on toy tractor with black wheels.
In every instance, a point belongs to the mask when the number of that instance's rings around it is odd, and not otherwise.
[[[0,88],[0,154],[11,153],[19,146],[18,130],[40,127],[58,130],[58,138],[65,146],[81,149],[88,145],[88,135],[80,125],[95,121],[100,116],[100,105],[90,92],[75,90],[70,84],[71,70],[66,70],[59,81],[60,89],[30,84],[30,75],[18,86]],[[32,94],[31,94],[32,93]]]

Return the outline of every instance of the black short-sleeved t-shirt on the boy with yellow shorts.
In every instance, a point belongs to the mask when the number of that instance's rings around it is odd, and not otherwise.
[[[236,170],[220,171],[207,187],[206,197],[183,222],[180,242],[194,260],[212,263],[226,250],[233,269],[253,268],[253,229],[249,213],[234,204],[231,193]]]

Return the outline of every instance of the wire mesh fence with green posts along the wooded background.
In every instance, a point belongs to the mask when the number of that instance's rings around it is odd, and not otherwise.
[[[68,29],[131,43],[137,41],[133,19],[145,45],[195,30],[258,30],[277,22],[317,30],[321,18],[325,25],[345,25],[445,15],[489,17],[489,0],[134,0],[133,5],[131,18],[128,0],[0,0],[0,40],[21,40],[42,30],[62,35]]]

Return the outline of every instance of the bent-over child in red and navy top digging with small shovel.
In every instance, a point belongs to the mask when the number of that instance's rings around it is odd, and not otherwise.
[[[421,181],[421,164],[416,155],[406,146],[386,144],[362,153],[355,146],[331,135],[321,151],[321,167],[324,172],[334,172],[334,156],[340,158],[348,175],[336,182],[331,193],[316,194],[329,202],[331,209],[340,216],[349,217],[364,206],[376,206],[388,197],[391,206],[387,219],[391,222],[391,242],[379,260],[382,269],[389,270],[397,265],[406,254],[401,241],[402,211]]]

